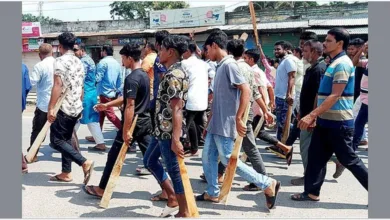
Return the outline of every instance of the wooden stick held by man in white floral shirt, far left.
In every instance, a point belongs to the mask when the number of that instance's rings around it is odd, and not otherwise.
[[[68,88],[63,92],[60,96],[60,98],[57,100],[56,105],[54,106],[54,114],[57,114],[58,110],[60,109],[62,102],[65,99],[66,93],[68,92]],[[45,125],[43,126],[42,130],[39,132],[37,138],[35,139],[33,145],[31,146],[30,150],[28,151],[26,155],[26,161],[28,163],[31,163],[35,157],[35,155],[38,153],[39,147],[41,146],[43,140],[46,137],[47,131],[50,128],[51,123],[49,121],[46,121]]]

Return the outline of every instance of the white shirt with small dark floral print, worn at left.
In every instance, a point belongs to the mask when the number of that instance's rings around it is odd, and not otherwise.
[[[77,117],[83,111],[81,101],[85,77],[83,63],[73,52],[67,52],[56,59],[54,75],[61,78],[64,88],[68,88],[61,111],[69,116]]]

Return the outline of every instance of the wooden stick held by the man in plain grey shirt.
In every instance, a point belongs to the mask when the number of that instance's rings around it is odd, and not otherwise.
[[[249,109],[250,109],[250,105],[248,105],[248,107],[245,110],[244,119],[243,119],[244,124],[246,124],[246,122],[248,121]],[[244,137],[237,135],[236,141],[234,142],[232,155],[230,156],[229,163],[226,166],[225,178],[223,180],[221,193],[219,195],[219,201],[225,204],[227,203],[227,199],[233,184],[233,178],[234,175],[236,174],[237,162],[238,162],[237,158],[241,151],[241,145],[243,139]]]

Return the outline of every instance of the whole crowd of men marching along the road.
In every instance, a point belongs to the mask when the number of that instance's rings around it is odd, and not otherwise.
[[[72,181],[71,164],[75,162],[84,172],[83,190],[101,198],[122,144],[136,142],[144,164],[137,173],[153,175],[162,189],[151,198],[166,202],[161,216],[178,211],[176,217],[188,217],[177,158],[198,156],[199,146],[204,146],[201,178],[207,187],[196,200],[219,202],[218,185],[224,181],[239,135],[244,137],[242,147],[248,160],[238,161],[236,173],[248,182],[243,190],[264,192],[269,209],[276,205],[281,183],[268,176],[256,138],[271,144],[267,149],[286,159],[288,166],[293,144],[300,139],[304,173],[291,184],[304,185],[304,192],[292,195],[292,200],[320,200],[326,165],[332,158],[334,178],[347,168],[368,190],[368,169],[356,154],[360,144],[367,144],[368,46],[361,39],[350,40],[343,28],[329,30],[324,42],[304,32],[296,48],[278,41],[275,60],[265,56],[261,44],[246,49],[244,40],[229,40],[218,29],[210,33],[203,48],[197,46],[193,34],[158,31],[154,44],[125,45],[119,52],[122,65],[114,59],[111,46],[103,47],[103,59],[95,65],[72,33],[65,32],[58,40],[60,57],[53,58],[52,46],[44,43],[39,47],[41,62],[30,74],[24,64],[22,70],[23,110],[27,93],[32,86],[37,88],[30,145],[48,120],[52,123],[50,146],[62,155],[62,170],[50,181]],[[129,70],[125,77],[122,66]],[[63,91],[66,97],[56,114],[54,106]],[[293,114],[287,121],[291,107]],[[138,120],[130,133],[135,115]],[[106,116],[117,134],[99,185],[88,185],[94,162],[72,140],[84,124],[92,135],[86,139],[96,143],[89,150],[106,151],[102,133]],[[283,140],[289,122],[290,134]],[[260,131],[255,137],[257,126]],[[273,128],[276,137],[269,133]]]

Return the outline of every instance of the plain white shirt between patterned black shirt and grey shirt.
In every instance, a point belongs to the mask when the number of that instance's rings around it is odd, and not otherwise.
[[[204,111],[208,102],[208,78],[212,71],[209,64],[192,55],[182,61],[182,67],[189,77],[188,99],[186,109]]]

